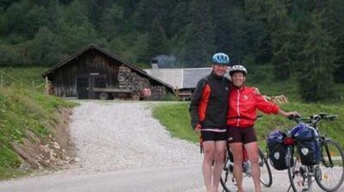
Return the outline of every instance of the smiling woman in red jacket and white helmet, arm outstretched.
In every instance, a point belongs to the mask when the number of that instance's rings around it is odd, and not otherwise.
[[[227,112],[228,142],[234,156],[234,176],[238,191],[242,188],[243,146],[247,151],[252,168],[255,190],[260,192],[260,168],[258,164],[258,143],[254,124],[256,109],[285,117],[298,115],[296,111],[284,112],[277,105],[268,102],[259,94],[257,88],[244,86],[247,70],[241,65],[233,66],[230,71],[232,88]]]

